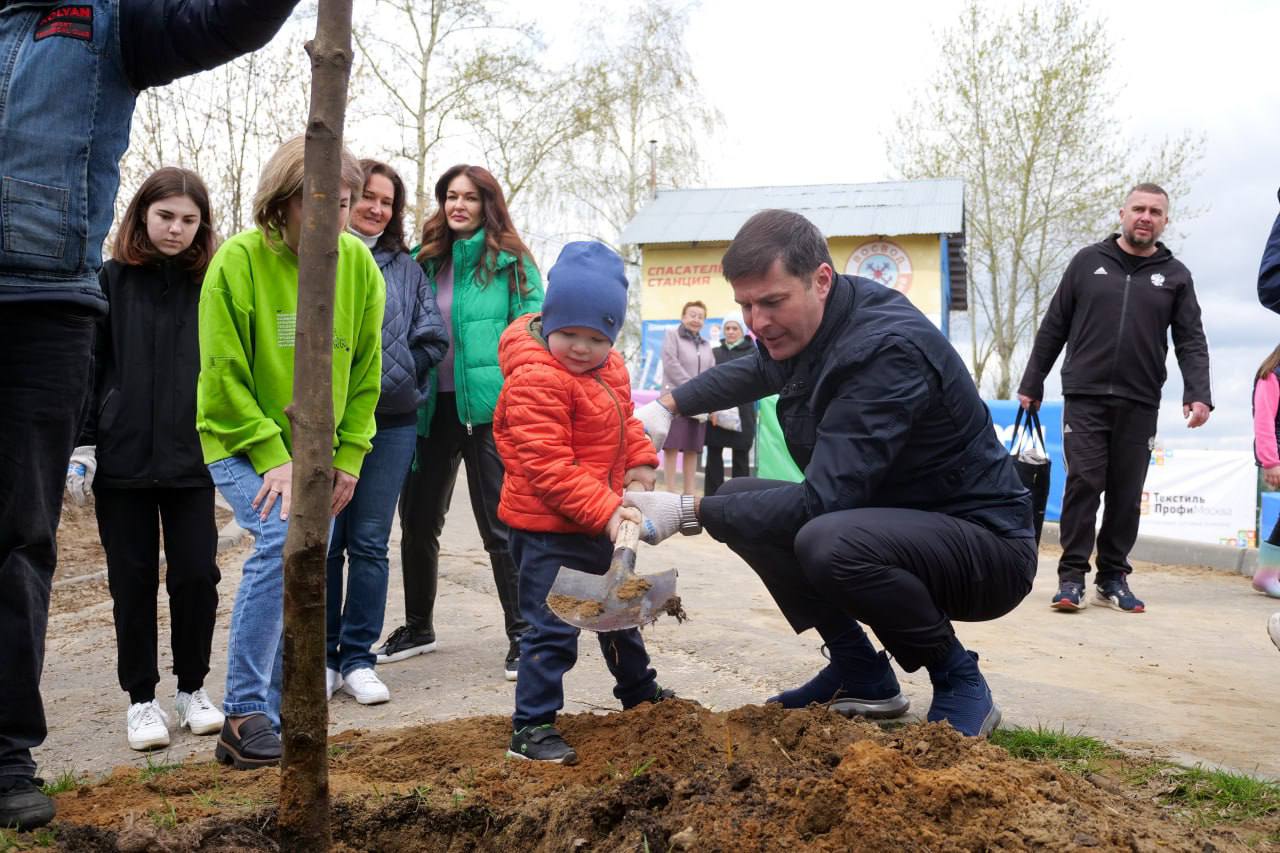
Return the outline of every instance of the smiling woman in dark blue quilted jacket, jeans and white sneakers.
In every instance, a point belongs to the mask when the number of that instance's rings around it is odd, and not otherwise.
[[[374,674],[372,652],[387,608],[387,543],[401,484],[413,461],[417,407],[449,339],[435,295],[404,243],[403,182],[385,163],[361,160],[360,165],[365,188],[352,205],[348,229],[374,252],[387,279],[383,387],[374,446],[329,539],[326,683],[329,697],[342,688],[361,704],[376,704],[390,698]],[[343,553],[349,562],[346,602]]]

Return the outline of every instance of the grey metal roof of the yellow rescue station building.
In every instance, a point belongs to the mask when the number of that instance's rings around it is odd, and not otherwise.
[[[803,214],[828,238],[957,233],[964,231],[964,182],[663,190],[626,224],[622,242],[727,242],[751,214],[768,207]]]

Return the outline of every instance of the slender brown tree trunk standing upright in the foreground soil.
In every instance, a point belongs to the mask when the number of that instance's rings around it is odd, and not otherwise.
[[[352,0],[320,0],[311,56],[293,352],[293,512],[284,542],[280,849],[328,850],[325,556],[333,501],[333,295]]]

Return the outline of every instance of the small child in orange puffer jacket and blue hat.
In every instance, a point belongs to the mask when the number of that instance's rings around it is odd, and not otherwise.
[[[561,566],[604,574],[623,519],[622,491],[653,488],[658,455],[632,416],[631,379],[613,350],[627,310],[622,259],[595,242],[570,243],[548,275],[543,313],[503,332],[504,377],[494,438],[507,469],[498,517],[520,567],[521,638],[516,713],[507,756],[562,765],[577,753],[553,725],[579,630],[547,606]],[[675,693],[657,684],[640,631],[599,634],[623,708]]]

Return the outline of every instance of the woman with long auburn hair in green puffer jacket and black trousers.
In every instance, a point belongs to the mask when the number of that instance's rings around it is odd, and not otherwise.
[[[449,350],[419,411],[417,456],[401,491],[404,625],[378,649],[390,663],[435,649],[435,585],[440,530],[458,462],[467,466],[471,511],[480,529],[507,630],[503,672],[516,680],[520,617],[517,570],[498,520],[502,460],[493,443],[493,409],[502,391],[498,338],[513,319],[543,305],[534,259],[516,233],[502,187],[481,167],[456,165],[435,183],[435,214],[422,227],[417,260],[435,289]]]

